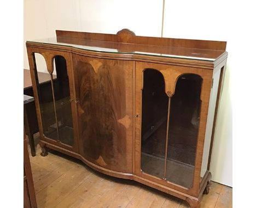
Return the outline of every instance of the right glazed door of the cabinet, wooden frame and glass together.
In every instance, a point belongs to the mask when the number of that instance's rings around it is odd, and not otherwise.
[[[211,76],[136,62],[136,175],[197,195]]]

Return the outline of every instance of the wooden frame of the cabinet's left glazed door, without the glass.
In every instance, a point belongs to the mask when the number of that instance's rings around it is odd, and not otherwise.
[[[64,143],[58,142],[56,140],[50,139],[44,136],[43,134],[43,125],[42,125],[42,118],[40,113],[40,103],[39,103],[38,91],[37,91],[36,64],[34,63],[35,62],[34,53],[39,53],[44,57],[48,72],[53,72],[54,70],[53,61],[56,56],[61,56],[66,60],[67,75],[68,75],[68,81],[69,81],[69,93],[71,98],[72,122],[73,122],[73,139],[74,139],[73,146],[69,146]],[[76,98],[75,98],[75,92],[74,92],[74,81],[73,81],[74,75],[73,75],[73,64],[72,64],[71,53],[27,46],[27,55],[28,55],[28,62],[30,65],[30,74],[31,74],[34,100],[36,103],[40,140],[59,146],[60,148],[64,148],[69,151],[78,152],[78,130],[77,130],[77,114],[76,114],[77,109],[75,105]]]

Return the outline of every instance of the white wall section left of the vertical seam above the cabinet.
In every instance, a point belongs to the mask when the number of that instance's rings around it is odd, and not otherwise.
[[[24,0],[24,68],[29,69],[26,40],[53,37],[56,29],[116,34],[129,28],[136,35],[161,36],[161,19],[158,0]]]

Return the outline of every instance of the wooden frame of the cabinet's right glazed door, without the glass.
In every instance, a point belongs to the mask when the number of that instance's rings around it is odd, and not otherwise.
[[[183,74],[196,74],[202,77],[201,87],[201,115],[199,132],[196,145],[194,180],[191,188],[185,188],[164,179],[143,173],[141,170],[141,118],[142,118],[142,89],[143,89],[143,71],[145,69],[154,69],[161,72],[165,79],[165,92],[168,96],[172,96],[175,91],[176,82],[179,76]],[[177,66],[167,64],[156,64],[147,62],[136,62],[136,94],[135,94],[135,175],[144,179],[159,183],[162,186],[172,188],[178,192],[198,197],[200,190],[200,172],[202,163],[203,143],[205,139],[206,121],[208,105],[210,100],[212,70],[203,68],[193,68],[188,66]]]

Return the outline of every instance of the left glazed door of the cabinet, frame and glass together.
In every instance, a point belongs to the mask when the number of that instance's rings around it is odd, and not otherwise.
[[[41,139],[77,152],[73,72],[67,52],[28,48]],[[33,60],[31,60],[33,59]]]

